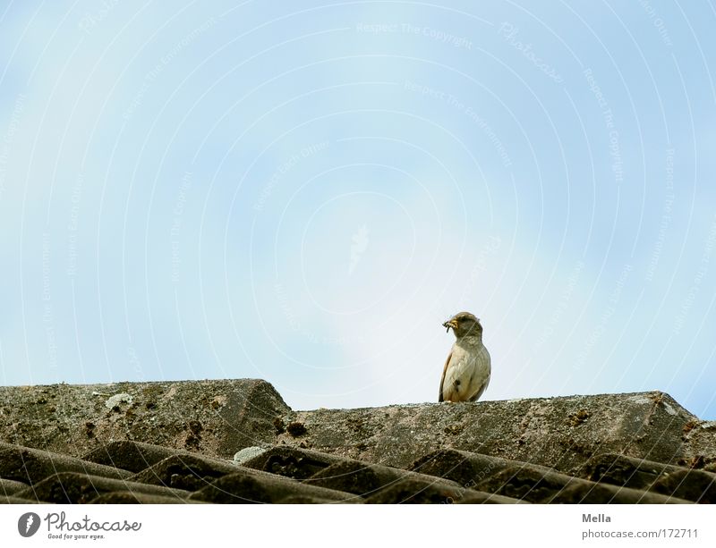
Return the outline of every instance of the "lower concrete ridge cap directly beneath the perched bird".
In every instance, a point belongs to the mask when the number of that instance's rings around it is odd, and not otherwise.
[[[279,434],[277,443],[397,468],[452,448],[563,471],[604,452],[665,463],[693,458],[684,436],[700,424],[662,392],[318,409],[285,420],[300,434]],[[698,451],[712,451],[711,443]]]

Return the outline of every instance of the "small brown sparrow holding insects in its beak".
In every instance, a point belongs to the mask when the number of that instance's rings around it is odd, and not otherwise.
[[[440,379],[438,401],[477,401],[490,384],[490,352],[482,344],[480,320],[459,312],[445,322],[456,341],[447,355]]]

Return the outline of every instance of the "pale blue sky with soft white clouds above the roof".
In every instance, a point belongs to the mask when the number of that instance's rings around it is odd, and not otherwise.
[[[0,2],[0,383],[716,418],[712,3]]]

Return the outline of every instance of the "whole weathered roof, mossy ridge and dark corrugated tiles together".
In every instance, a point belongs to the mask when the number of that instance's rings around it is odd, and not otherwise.
[[[265,381],[0,388],[0,502],[716,502],[663,392],[294,411]]]

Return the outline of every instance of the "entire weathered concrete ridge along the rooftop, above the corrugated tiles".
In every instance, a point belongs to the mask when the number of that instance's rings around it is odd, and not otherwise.
[[[284,446],[396,468],[445,449],[565,472],[601,453],[704,469],[716,462],[716,423],[662,392],[292,411],[253,379],[4,387],[0,441],[74,456],[136,441],[222,459]],[[89,459],[128,466],[123,448],[116,459],[107,448]]]

